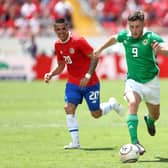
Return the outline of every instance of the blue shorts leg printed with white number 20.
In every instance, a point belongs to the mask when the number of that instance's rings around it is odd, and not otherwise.
[[[96,84],[90,87],[87,87],[87,90],[84,94],[86,103],[91,112],[97,111],[100,109],[100,84]]]

